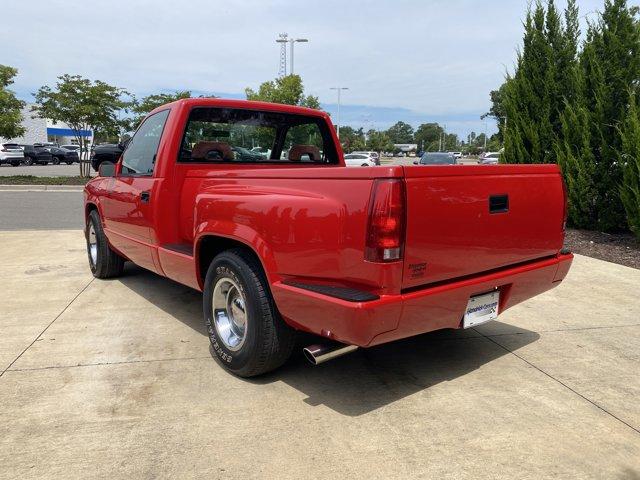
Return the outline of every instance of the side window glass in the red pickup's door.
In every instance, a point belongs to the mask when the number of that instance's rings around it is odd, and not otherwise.
[[[169,110],[155,113],[144,121],[122,154],[122,175],[151,175]]]

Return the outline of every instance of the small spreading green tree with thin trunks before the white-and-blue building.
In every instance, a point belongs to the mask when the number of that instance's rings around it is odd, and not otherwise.
[[[55,88],[40,87],[35,94],[33,111],[39,116],[68,124],[74,131],[81,152],[88,152],[88,140],[82,130],[103,135],[118,132],[118,113],[129,106],[123,99],[127,92],[100,80],[91,81],[79,75],[58,77]],[[89,176],[90,164],[80,162],[80,175]]]

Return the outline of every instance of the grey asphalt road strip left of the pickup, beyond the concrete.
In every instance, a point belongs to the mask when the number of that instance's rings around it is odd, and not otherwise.
[[[81,188],[73,192],[0,191],[0,230],[81,229]]]

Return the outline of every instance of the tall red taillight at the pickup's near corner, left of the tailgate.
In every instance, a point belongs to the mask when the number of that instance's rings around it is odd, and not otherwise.
[[[405,192],[401,179],[376,180],[369,200],[365,260],[402,259],[405,229]]]

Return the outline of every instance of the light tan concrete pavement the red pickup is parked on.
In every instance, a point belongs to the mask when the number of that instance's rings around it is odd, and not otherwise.
[[[197,292],[86,264],[0,232],[0,479],[640,478],[638,270],[578,256],[499,321],[248,381]]]

